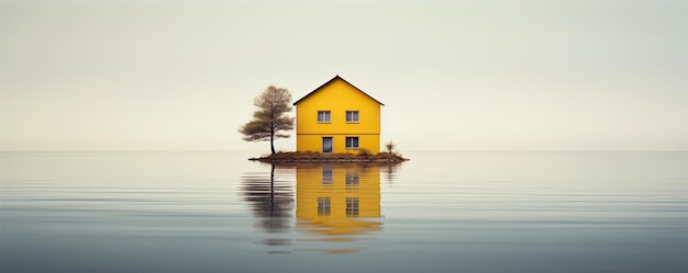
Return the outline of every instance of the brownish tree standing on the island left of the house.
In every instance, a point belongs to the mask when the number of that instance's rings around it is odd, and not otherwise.
[[[270,150],[275,153],[275,138],[286,138],[289,135],[280,130],[293,129],[293,117],[286,115],[291,111],[291,94],[289,90],[267,87],[253,104],[260,110],[253,113],[253,120],[244,124],[238,132],[244,134],[246,141],[270,141]]]

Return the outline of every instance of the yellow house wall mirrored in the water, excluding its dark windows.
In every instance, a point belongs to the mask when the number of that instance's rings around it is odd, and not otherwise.
[[[323,183],[323,170],[332,170]],[[347,184],[347,173],[358,183]],[[330,198],[330,213],[318,209],[318,198]],[[358,198],[358,215],[347,215],[346,198]],[[368,219],[366,219],[368,218]],[[297,167],[297,227],[320,235],[355,235],[380,229],[380,172],[377,167]]]

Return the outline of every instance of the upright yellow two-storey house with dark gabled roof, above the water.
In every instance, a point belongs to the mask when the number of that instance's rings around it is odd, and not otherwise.
[[[380,105],[335,76],[296,101],[297,151],[357,152],[380,150]]]

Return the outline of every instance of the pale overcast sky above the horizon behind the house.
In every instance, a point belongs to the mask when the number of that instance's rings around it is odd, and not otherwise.
[[[253,98],[335,75],[402,151],[688,149],[688,1],[0,4],[2,150],[267,152]]]

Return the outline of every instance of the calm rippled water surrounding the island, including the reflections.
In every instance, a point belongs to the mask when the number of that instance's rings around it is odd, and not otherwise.
[[[688,272],[688,152],[0,153],[0,272]]]

